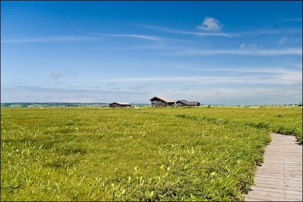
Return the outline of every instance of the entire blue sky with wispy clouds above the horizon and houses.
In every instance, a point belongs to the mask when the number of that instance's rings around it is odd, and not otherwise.
[[[302,101],[302,2],[1,1],[1,102]]]

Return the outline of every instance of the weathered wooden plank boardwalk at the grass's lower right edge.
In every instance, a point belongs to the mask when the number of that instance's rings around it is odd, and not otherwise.
[[[302,146],[293,136],[271,137],[245,201],[302,201]]]

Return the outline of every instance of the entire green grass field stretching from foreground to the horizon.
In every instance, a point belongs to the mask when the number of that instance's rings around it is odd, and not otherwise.
[[[242,200],[300,108],[1,108],[1,200]]]

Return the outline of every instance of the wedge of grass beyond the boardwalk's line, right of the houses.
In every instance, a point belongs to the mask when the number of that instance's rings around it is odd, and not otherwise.
[[[175,107],[144,108],[149,113],[179,116],[189,119],[204,119],[211,122],[251,125],[269,131],[293,135],[302,144],[302,109],[300,107],[234,108],[234,107]]]

